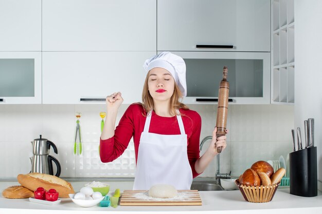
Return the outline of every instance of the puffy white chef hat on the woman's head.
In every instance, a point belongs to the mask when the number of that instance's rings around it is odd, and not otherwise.
[[[182,57],[169,51],[161,52],[146,60],[143,65],[148,73],[152,68],[164,68],[171,73],[182,95],[187,95],[186,64]]]

